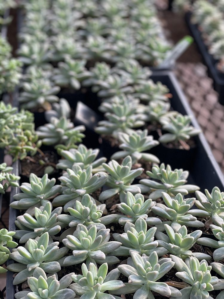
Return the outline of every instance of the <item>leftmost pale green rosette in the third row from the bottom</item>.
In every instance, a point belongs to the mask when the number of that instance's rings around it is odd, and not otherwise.
[[[52,240],[51,236],[55,236],[63,228],[63,224],[57,221],[57,216],[61,213],[61,207],[52,211],[50,202],[47,202],[44,207],[35,207],[34,216],[36,219],[28,213],[16,218],[15,224],[19,230],[15,231],[14,237],[19,239],[20,243],[25,243],[29,239],[35,239],[48,232],[50,240]]]

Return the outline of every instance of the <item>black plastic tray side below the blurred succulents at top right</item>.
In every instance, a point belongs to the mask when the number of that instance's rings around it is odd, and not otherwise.
[[[192,36],[197,44],[197,47],[200,50],[200,53],[203,57],[205,64],[208,67],[208,75],[214,81],[214,89],[219,94],[219,102],[220,104],[224,105],[224,73],[221,73],[217,67],[216,63],[218,62],[214,57],[208,53],[208,48],[205,45],[201,32],[198,29],[198,26],[191,22],[191,12],[185,14],[185,21],[188,25],[189,30],[191,31]]]

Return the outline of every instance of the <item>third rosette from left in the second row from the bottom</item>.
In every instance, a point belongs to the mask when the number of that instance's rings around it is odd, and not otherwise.
[[[123,234],[113,234],[113,238],[122,243],[121,247],[112,252],[115,256],[129,256],[133,251],[147,256],[153,251],[156,251],[158,256],[168,252],[165,248],[157,248],[158,242],[154,241],[156,228],[152,227],[147,231],[147,223],[142,217],[136,220],[135,224],[126,222],[124,230]]]

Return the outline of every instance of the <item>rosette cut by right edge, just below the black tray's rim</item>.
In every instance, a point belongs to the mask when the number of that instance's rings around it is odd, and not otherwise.
[[[214,187],[211,193],[205,189],[205,194],[196,191],[195,195],[197,197],[195,205],[198,209],[191,209],[188,213],[193,216],[209,218],[208,223],[214,222],[214,224],[217,224],[217,215],[224,212],[224,192],[221,192],[218,187]]]

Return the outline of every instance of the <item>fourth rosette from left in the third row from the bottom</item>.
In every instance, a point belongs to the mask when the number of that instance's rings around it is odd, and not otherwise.
[[[178,193],[174,199],[172,199],[169,194],[162,192],[162,199],[165,205],[157,203],[156,206],[151,209],[153,213],[168,219],[168,221],[163,221],[162,224],[157,226],[159,231],[165,230],[165,223],[170,225],[175,232],[177,232],[182,225],[198,228],[204,226],[196,217],[186,215],[188,210],[194,205],[195,198],[183,199],[181,193]]]

